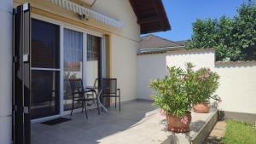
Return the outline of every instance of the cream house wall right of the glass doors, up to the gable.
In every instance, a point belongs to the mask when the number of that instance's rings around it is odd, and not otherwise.
[[[137,99],[136,68],[140,28],[131,4],[128,0],[97,0],[92,9],[124,24],[110,35],[110,75],[118,79],[121,101]]]

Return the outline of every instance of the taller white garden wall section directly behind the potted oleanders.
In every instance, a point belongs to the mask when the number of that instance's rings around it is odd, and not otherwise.
[[[137,95],[139,99],[150,99],[153,91],[148,87],[151,79],[164,78],[167,74],[166,66],[185,66],[192,62],[198,69],[200,67],[214,68],[215,54],[208,50],[182,50],[155,55],[137,56]]]

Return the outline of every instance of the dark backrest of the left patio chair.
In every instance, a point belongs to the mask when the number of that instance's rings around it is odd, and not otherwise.
[[[78,94],[78,93],[80,94],[84,93],[84,86],[83,86],[82,79],[69,79],[69,83],[70,83],[70,88],[73,96],[75,96],[75,94]]]

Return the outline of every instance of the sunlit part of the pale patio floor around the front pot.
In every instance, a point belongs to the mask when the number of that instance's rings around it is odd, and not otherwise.
[[[145,113],[145,117],[129,129],[100,140],[104,144],[201,144],[217,122],[217,109],[209,113],[191,112],[190,132],[181,134],[166,130],[166,117],[159,110]]]

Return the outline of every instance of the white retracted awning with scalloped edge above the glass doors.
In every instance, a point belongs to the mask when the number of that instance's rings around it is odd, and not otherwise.
[[[60,6],[61,8],[73,11],[74,13],[85,14],[86,16],[93,18],[97,21],[100,21],[103,24],[106,24],[109,26],[113,26],[117,28],[120,28],[123,26],[123,24],[119,20],[115,20],[103,14],[99,14],[96,11],[84,8],[83,6],[80,6],[77,3],[72,3],[68,0],[49,0],[49,2]]]

